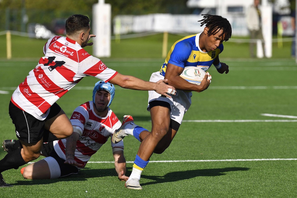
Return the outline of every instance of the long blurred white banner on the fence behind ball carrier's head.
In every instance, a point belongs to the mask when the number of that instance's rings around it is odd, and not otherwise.
[[[232,27],[232,35],[249,35],[245,16],[226,15]],[[203,31],[204,26],[198,20],[203,19],[201,15],[172,15],[172,14],[150,14],[150,15],[118,15],[113,20],[114,33],[128,34],[131,32],[164,32],[168,33],[194,33]],[[119,24],[117,25],[116,24]]]

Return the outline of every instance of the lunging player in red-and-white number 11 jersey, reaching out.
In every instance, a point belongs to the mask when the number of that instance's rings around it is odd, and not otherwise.
[[[92,45],[88,41],[95,36],[90,34],[89,22],[83,15],[70,16],[65,25],[66,37],[56,36],[48,41],[45,56],[12,94],[9,114],[23,148],[0,161],[0,187],[11,186],[4,181],[3,171],[17,169],[40,156],[46,133],[54,139],[72,134],[72,125],[56,101],[83,77],[93,76],[123,88],[155,90],[167,97],[171,97],[167,93],[175,94],[172,86],[163,83],[167,80],[152,83],[121,75],[83,50],[82,47]]]

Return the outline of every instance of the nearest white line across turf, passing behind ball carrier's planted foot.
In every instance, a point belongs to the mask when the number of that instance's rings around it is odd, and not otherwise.
[[[210,161],[281,161],[281,160],[297,160],[296,158],[273,158],[273,159],[206,159],[206,160],[161,160],[161,161],[149,161],[149,163],[158,163],[158,162],[210,162]],[[88,161],[88,163],[114,163],[114,161]],[[134,161],[126,161],[126,163],[134,163]]]

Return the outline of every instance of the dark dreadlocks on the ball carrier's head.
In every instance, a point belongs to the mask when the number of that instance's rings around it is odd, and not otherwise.
[[[221,16],[218,15],[202,15],[203,19],[199,20],[201,22],[201,26],[206,24],[205,26],[208,27],[208,37],[210,35],[217,34],[217,32],[222,29],[223,33],[219,35],[221,37],[225,34],[225,41],[228,41],[231,38],[232,28],[229,21]],[[198,22],[199,22],[198,21]]]

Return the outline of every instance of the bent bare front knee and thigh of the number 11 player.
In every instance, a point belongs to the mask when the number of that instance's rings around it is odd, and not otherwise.
[[[55,135],[57,139],[64,139],[73,133],[72,124],[62,109],[55,117],[45,122],[45,129]]]

